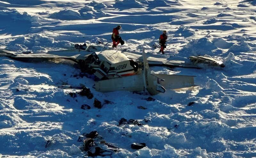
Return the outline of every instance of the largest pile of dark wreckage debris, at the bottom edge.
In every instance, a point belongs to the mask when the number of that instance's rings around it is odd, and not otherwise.
[[[79,136],[77,141],[83,142],[83,147],[80,149],[92,157],[112,155],[119,149],[115,144],[106,143],[106,140],[99,136],[97,131],[84,133],[83,136]]]

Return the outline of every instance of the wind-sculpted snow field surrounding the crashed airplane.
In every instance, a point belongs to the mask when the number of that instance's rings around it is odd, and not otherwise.
[[[120,148],[112,155],[115,158],[256,157],[255,4],[1,0],[0,49],[38,53],[99,41],[111,47],[112,30],[121,25],[125,44],[117,49],[141,52],[144,45],[146,53],[158,54],[158,38],[166,30],[165,55],[211,56],[225,67],[151,67],[154,73],[195,75],[196,86],[167,90],[147,101],[147,93],[97,92],[92,78],[62,61],[31,63],[1,57],[0,155],[84,157],[78,137],[98,131]],[[76,88],[81,84],[108,104],[97,109],[94,98],[71,95],[81,91]],[[91,109],[81,109],[84,104]],[[143,125],[119,125],[121,118]],[[135,150],[132,143],[147,147]]]

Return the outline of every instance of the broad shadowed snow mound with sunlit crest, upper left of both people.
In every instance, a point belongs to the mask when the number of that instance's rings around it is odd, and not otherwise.
[[[71,9],[64,9],[50,14],[49,18],[60,20],[79,20],[81,19],[80,13]]]

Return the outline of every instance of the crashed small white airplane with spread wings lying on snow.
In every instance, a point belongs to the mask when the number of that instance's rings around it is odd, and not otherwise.
[[[153,55],[145,53],[144,49],[142,53],[103,50],[102,46],[87,47],[86,44],[76,45],[75,48],[30,54],[0,50],[0,56],[22,61],[72,60],[82,71],[94,74],[98,78],[94,88],[100,92],[147,90],[151,95],[156,95],[164,93],[166,89],[191,87],[194,86],[195,76],[151,74],[149,65],[200,68],[187,58]]]

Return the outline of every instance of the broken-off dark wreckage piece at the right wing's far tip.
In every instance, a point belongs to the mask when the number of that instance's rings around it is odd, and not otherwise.
[[[220,67],[225,67],[225,65],[218,60],[215,60],[211,57],[206,57],[206,56],[189,56],[189,59],[194,63],[204,63],[204,64],[209,64],[213,66],[220,66]]]

